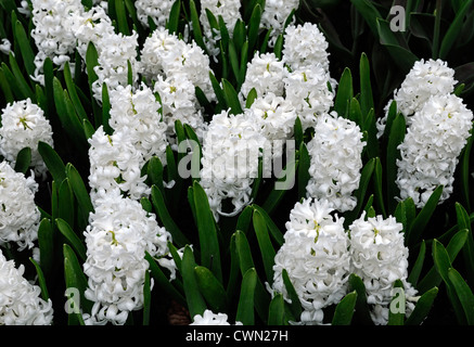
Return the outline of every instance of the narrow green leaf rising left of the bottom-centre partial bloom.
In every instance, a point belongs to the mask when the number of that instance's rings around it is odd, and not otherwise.
[[[182,284],[184,288],[184,297],[188,303],[188,310],[191,319],[196,314],[203,314],[207,309],[206,303],[200,292],[194,268],[196,267],[193,252],[190,246],[184,247],[182,256]]]

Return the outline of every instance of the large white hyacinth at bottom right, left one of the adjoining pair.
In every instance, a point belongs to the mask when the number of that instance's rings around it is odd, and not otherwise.
[[[349,279],[349,239],[344,218],[332,216],[325,201],[306,198],[296,203],[286,222],[284,244],[274,257],[271,291],[290,299],[283,283],[286,270],[304,312],[302,323],[322,323],[323,308],[338,303]]]

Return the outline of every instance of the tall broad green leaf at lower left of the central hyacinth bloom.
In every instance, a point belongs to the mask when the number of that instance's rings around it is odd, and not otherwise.
[[[196,224],[200,235],[201,264],[210,269],[219,281],[222,281],[216,222],[209,207],[206,192],[197,182],[194,182],[193,184],[193,195],[196,211]]]

